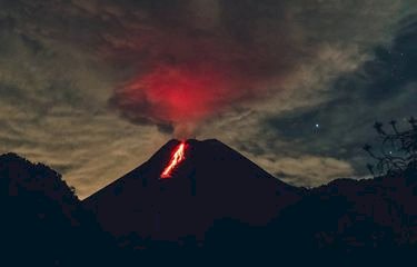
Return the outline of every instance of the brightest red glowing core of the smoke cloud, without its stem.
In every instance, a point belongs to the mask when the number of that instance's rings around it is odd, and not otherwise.
[[[244,86],[239,83],[221,69],[203,65],[195,69],[162,66],[133,79],[125,93],[132,102],[146,100],[143,111],[152,120],[178,126],[205,119],[237,100],[244,95],[237,90]]]

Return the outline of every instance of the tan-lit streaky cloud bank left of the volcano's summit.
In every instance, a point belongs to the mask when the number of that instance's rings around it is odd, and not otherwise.
[[[137,167],[166,141],[107,107],[112,79],[77,49],[0,33],[0,152],[57,169],[80,198]]]

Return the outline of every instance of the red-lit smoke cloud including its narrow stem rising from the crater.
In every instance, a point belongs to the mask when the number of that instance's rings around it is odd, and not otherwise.
[[[159,65],[126,83],[117,92],[118,106],[129,119],[170,125],[177,138],[189,138],[202,120],[265,95],[258,77],[244,67]]]

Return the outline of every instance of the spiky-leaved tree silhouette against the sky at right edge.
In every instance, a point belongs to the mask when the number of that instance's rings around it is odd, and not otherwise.
[[[397,177],[406,169],[417,168],[417,120],[410,117],[408,123],[408,129],[399,130],[397,121],[391,120],[390,130],[386,131],[381,122],[375,122],[380,146],[373,148],[366,144],[363,147],[375,160],[374,165],[367,165],[373,176]]]

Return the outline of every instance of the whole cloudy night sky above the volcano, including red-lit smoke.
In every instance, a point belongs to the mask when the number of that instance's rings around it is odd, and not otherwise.
[[[366,177],[416,83],[416,0],[0,0],[0,152],[80,198],[171,138],[297,186]]]

